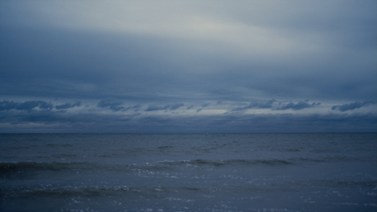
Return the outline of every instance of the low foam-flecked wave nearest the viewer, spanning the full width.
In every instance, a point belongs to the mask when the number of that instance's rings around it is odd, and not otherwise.
[[[206,181],[209,179],[205,179]],[[196,180],[195,180],[196,181]],[[69,196],[100,197],[100,196],[127,196],[134,198],[137,196],[159,196],[160,194],[216,194],[216,192],[276,192],[276,191],[296,191],[311,187],[312,189],[325,189],[332,191],[335,188],[343,189],[367,189],[366,194],[376,196],[377,183],[374,179],[307,179],[282,182],[245,182],[245,184],[203,184],[193,183],[190,186],[80,186],[80,187],[0,187],[0,198],[18,196],[23,198],[52,197],[64,198]]]

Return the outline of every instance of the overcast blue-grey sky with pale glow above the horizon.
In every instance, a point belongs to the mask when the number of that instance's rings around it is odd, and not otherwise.
[[[377,1],[0,1],[0,133],[377,132]]]

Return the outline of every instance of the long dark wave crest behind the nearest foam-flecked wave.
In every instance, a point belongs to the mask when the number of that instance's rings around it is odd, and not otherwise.
[[[250,166],[250,165],[291,165],[288,160],[175,160],[175,161],[158,161],[153,163],[94,163],[94,162],[0,162],[0,178],[3,179],[33,179],[42,172],[64,172],[69,175],[70,172],[81,172],[95,175],[95,173],[113,172],[113,173],[141,173],[141,172],[172,172],[177,170],[195,170],[197,168],[220,168],[225,166]],[[55,175],[54,174],[54,175]]]

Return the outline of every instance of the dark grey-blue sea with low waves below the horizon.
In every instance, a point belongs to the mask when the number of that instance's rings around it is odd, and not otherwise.
[[[0,211],[377,211],[377,134],[1,134]]]

